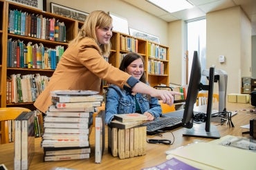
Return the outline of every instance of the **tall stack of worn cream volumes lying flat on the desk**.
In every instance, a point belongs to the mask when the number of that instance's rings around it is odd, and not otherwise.
[[[44,117],[44,161],[89,158],[93,112],[103,96],[95,91],[53,91]]]

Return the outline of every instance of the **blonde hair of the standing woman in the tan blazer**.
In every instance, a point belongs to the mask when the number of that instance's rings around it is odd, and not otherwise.
[[[84,37],[89,37],[93,39],[97,44],[100,44],[98,42],[98,39],[96,37],[96,32],[95,29],[96,27],[99,28],[104,28],[106,26],[109,26],[112,23],[112,18],[111,16],[102,10],[95,10],[91,12],[85,19],[84,25],[82,28],[79,30],[77,37],[75,37],[69,44],[77,44],[81,39]],[[110,49],[111,49],[111,44],[102,44],[100,45],[100,48],[102,50],[102,55],[104,57],[109,57]]]

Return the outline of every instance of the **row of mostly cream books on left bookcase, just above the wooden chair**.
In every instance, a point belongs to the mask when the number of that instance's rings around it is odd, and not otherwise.
[[[50,78],[39,73],[33,75],[13,74],[6,81],[6,103],[35,102]]]

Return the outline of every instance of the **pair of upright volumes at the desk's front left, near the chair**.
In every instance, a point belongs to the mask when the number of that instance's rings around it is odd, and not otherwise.
[[[28,169],[35,152],[35,113],[22,112],[15,119],[15,169]]]

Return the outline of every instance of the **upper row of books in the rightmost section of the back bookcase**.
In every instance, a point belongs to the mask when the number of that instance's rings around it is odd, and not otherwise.
[[[156,58],[156,59],[164,59],[166,60],[166,56],[167,56],[167,49],[164,47],[161,47],[157,44],[148,42],[147,43],[147,52],[148,52],[148,56],[152,57],[152,58]]]

